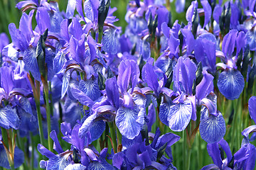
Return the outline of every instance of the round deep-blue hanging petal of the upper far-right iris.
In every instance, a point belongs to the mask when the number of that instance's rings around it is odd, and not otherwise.
[[[220,93],[223,94],[225,98],[234,100],[235,98],[239,98],[242,93],[245,81],[238,70],[228,69],[220,73],[217,85]]]

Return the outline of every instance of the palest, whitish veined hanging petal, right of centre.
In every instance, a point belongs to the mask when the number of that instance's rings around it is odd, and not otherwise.
[[[191,120],[192,103],[189,99],[184,103],[171,105],[167,120],[169,121],[169,128],[174,131],[184,130]]]

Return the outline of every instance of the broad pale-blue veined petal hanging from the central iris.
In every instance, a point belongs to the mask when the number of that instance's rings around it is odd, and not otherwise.
[[[144,113],[142,113],[144,112]],[[117,128],[122,135],[127,137],[129,140],[134,139],[139,135],[140,130],[142,130],[145,110],[143,108],[119,108],[117,110],[117,116],[115,118]],[[138,121],[139,120],[139,121]]]

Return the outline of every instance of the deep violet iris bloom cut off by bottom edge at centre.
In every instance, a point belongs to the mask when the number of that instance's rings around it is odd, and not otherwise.
[[[146,169],[146,167],[154,167],[155,169],[176,169],[173,164],[171,164],[173,161],[171,145],[174,145],[180,137],[173,133],[166,133],[160,136],[160,133],[160,130],[157,129],[151,145],[145,145],[145,142],[142,142],[142,138],[131,140],[132,145],[129,145],[129,147],[122,152],[114,154],[112,158],[113,165],[117,167],[117,169]],[[169,159],[167,159],[165,155],[160,154],[160,152],[165,152]],[[161,164],[159,162],[161,162]]]

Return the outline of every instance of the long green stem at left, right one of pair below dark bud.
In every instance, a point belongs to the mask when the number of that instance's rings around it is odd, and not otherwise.
[[[49,89],[48,82],[43,81],[43,92],[46,96],[46,119],[47,119],[47,135],[48,135],[48,149],[53,152],[53,142],[50,140],[50,103],[49,103]]]

